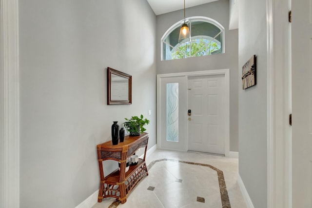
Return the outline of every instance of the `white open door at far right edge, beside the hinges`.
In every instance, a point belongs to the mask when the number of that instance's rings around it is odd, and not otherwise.
[[[312,208],[311,0],[292,0],[292,207]]]

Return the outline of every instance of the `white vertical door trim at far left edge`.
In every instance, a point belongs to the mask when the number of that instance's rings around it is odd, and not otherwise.
[[[1,193],[5,208],[20,207],[20,94],[19,94],[19,0],[1,4]],[[3,144],[3,145],[2,145]]]

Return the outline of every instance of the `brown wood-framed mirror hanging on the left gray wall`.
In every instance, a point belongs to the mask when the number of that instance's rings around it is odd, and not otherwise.
[[[107,104],[132,103],[132,76],[107,67]]]

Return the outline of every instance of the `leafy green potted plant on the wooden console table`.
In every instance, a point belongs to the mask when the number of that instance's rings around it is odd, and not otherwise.
[[[143,115],[140,117],[132,116],[131,119],[125,118],[126,122],[123,123],[127,131],[130,132],[130,136],[139,136],[146,129],[144,125],[148,125],[150,121],[148,119],[143,119]]]

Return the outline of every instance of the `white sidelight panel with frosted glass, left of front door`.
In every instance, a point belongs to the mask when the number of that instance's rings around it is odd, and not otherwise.
[[[186,76],[160,78],[159,148],[186,151]]]

